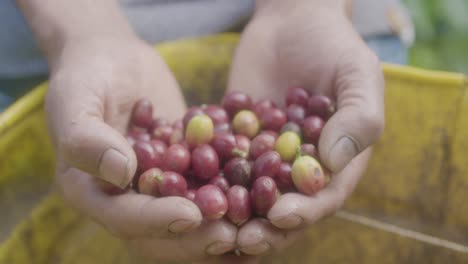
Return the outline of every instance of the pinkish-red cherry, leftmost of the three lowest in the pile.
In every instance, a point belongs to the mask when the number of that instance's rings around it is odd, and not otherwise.
[[[228,210],[226,195],[218,186],[212,184],[198,189],[194,202],[208,220],[220,219]]]

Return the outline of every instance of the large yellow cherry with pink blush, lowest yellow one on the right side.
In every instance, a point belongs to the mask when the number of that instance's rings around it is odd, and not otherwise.
[[[302,156],[294,162],[291,176],[296,188],[307,195],[318,192],[326,183],[322,166],[310,156]]]

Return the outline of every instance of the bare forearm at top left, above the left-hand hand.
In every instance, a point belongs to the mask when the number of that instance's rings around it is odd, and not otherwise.
[[[134,36],[115,0],[16,0],[53,65],[67,42],[93,36]]]

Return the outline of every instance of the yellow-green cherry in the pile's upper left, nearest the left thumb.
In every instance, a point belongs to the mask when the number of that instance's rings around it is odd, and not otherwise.
[[[207,115],[198,115],[190,119],[185,130],[185,141],[191,146],[208,144],[213,139],[213,121]]]

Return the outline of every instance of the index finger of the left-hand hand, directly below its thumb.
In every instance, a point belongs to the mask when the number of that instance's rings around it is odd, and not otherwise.
[[[134,192],[109,196],[97,188],[92,176],[74,168],[66,169],[58,180],[72,206],[125,239],[173,237],[202,221],[197,206],[181,197],[154,198]]]

